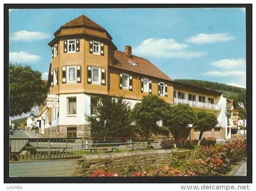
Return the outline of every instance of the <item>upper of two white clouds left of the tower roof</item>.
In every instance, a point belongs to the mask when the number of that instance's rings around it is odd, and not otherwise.
[[[50,34],[44,32],[21,30],[14,32],[10,39],[12,41],[35,41],[41,39],[49,39],[50,37]]]

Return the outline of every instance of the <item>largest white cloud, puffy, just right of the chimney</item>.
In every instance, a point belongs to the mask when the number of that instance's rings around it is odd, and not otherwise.
[[[206,55],[205,52],[184,51],[188,45],[177,43],[174,39],[147,39],[133,52],[141,56],[155,56],[161,58],[194,58]]]

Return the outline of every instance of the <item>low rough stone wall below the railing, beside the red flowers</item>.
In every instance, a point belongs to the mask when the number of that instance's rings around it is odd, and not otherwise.
[[[172,166],[173,160],[177,160],[177,153],[191,156],[191,152],[173,150],[149,150],[131,151],[111,154],[83,155],[79,160],[74,176],[91,176],[96,170],[106,170],[118,174],[127,174],[134,170],[152,170],[162,168],[165,165]],[[179,155],[180,156],[180,155]]]

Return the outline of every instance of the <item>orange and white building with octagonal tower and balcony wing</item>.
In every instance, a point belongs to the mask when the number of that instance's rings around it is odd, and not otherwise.
[[[85,15],[61,26],[48,44],[52,48],[50,95],[57,105],[41,107],[41,132],[47,137],[90,137],[86,117],[103,94],[122,95],[131,108],[143,96],[156,94],[171,104],[189,103],[214,113],[219,124],[206,135],[227,138],[226,99],[221,92],[174,82],[149,60],[117,50],[112,37]],[[44,120],[44,122],[42,122]],[[42,130],[43,129],[43,130]],[[189,129],[190,137],[197,132]],[[197,137],[198,138],[198,137]]]

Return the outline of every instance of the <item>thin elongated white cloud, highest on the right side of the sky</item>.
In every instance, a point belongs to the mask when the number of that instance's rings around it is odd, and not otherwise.
[[[205,44],[205,43],[216,43],[216,42],[226,42],[231,41],[235,37],[227,33],[216,33],[216,34],[197,34],[196,36],[191,36],[187,39],[187,42]]]

